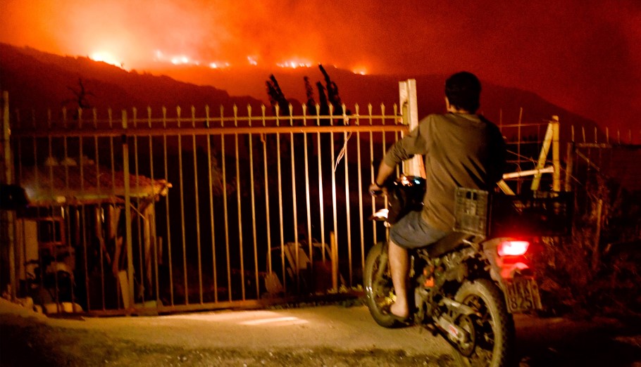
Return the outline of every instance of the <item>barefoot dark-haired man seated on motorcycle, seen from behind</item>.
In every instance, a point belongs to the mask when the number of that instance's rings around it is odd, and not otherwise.
[[[482,115],[481,85],[470,72],[458,72],[445,82],[447,114],[432,114],[418,123],[409,135],[387,150],[370,191],[380,191],[395,167],[415,154],[425,155],[425,198],[423,210],[410,212],[390,229],[389,259],[396,302],[390,313],[409,317],[406,280],[408,249],[425,247],[454,228],[456,187],[491,191],[502,179],[505,142],[498,127]]]

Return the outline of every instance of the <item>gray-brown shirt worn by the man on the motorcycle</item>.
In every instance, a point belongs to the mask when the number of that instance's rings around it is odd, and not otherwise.
[[[456,187],[491,191],[502,179],[505,141],[498,127],[481,115],[429,115],[387,150],[394,167],[415,154],[425,155],[423,219],[434,228],[454,228]]]

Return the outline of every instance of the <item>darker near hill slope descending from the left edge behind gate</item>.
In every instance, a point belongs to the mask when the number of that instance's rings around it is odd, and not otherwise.
[[[126,71],[85,57],[57,56],[30,48],[0,44],[0,89],[9,92],[11,110],[59,110],[63,106],[77,108],[73,103],[80,89],[79,80],[87,91],[87,103],[103,112],[107,108],[145,110],[156,113],[166,106],[175,115],[177,105],[189,115],[194,105],[231,108],[260,102],[249,97],[231,97],[213,86],[197,86],[178,82],[167,76]],[[146,115],[146,112],[142,111]]]

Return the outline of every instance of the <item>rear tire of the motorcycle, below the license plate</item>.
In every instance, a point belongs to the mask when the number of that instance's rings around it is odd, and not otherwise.
[[[464,356],[454,353],[459,366],[510,366],[514,354],[514,318],[508,313],[505,297],[487,279],[465,281],[455,300],[472,307],[481,315],[474,318],[473,349]]]

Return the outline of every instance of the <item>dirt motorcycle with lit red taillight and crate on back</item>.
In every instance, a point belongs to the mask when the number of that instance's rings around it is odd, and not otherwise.
[[[401,176],[386,185],[389,210],[371,219],[392,226],[409,210],[421,210],[425,180]],[[418,325],[440,334],[461,366],[506,366],[514,358],[513,314],[542,309],[528,250],[542,235],[567,231],[571,214],[566,193],[529,196],[457,188],[454,231],[410,250],[410,318],[390,313],[394,287],[387,241],[368,252],[366,304],[385,328]]]

